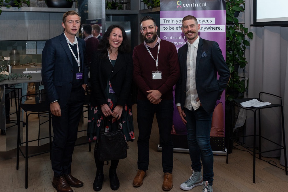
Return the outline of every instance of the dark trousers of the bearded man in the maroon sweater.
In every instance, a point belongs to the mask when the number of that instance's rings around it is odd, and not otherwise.
[[[137,122],[139,128],[138,169],[148,170],[149,138],[154,114],[158,122],[160,145],[162,147],[163,172],[173,170],[173,142],[171,130],[173,125],[173,100],[162,100],[159,104],[151,104],[148,100],[137,100]]]

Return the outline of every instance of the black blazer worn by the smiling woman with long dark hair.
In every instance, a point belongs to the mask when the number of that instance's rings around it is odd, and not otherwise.
[[[107,103],[105,98],[105,88],[108,77],[111,74],[110,83],[117,94],[116,105],[132,105],[131,83],[133,77],[133,62],[131,54],[118,53],[115,66],[113,68],[109,58],[102,59],[101,52],[96,51],[91,60],[90,79],[92,83],[91,103],[93,106]]]

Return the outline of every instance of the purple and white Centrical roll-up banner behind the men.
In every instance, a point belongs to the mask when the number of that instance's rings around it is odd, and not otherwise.
[[[181,31],[182,19],[187,15],[197,18],[198,24],[200,24],[199,36],[202,39],[217,41],[225,58],[225,0],[160,0],[160,38],[174,43],[177,50],[187,43],[187,39]],[[188,149],[186,134],[186,127],[174,106],[172,137],[175,149]],[[214,154],[226,154],[225,90],[221,99],[217,100],[213,112],[210,141]]]

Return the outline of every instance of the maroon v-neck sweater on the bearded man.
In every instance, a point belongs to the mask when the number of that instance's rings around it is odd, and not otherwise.
[[[148,49],[152,56],[157,59],[157,44]],[[158,90],[162,93],[161,99],[173,99],[173,86],[179,79],[180,69],[177,50],[173,43],[161,39],[158,55],[158,71],[162,71],[162,79],[152,79],[152,71],[156,71],[156,62],[150,56],[144,43],[136,46],[133,51],[133,80],[138,87],[140,100],[147,99],[148,90]]]

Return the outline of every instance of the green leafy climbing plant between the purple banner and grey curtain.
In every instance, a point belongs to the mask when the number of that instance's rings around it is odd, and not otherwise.
[[[250,42],[245,38],[253,39],[253,33],[239,23],[237,12],[245,12],[245,1],[226,0],[226,64],[231,73],[226,87],[226,100],[230,101],[243,97],[248,89],[248,82],[245,86],[245,75],[240,77],[238,69],[244,72],[247,64],[245,50],[250,46]]]

